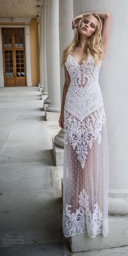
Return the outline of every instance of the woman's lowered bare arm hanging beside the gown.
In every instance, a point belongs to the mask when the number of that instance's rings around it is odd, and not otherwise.
[[[61,103],[61,111],[60,111],[60,118],[59,118],[59,126],[61,128],[63,128],[63,108],[65,106],[65,98],[66,98],[66,94],[67,94],[67,90],[68,90],[70,81],[71,81],[71,79],[70,79],[69,73],[67,71],[67,68],[65,66],[65,84],[63,86],[62,103]]]

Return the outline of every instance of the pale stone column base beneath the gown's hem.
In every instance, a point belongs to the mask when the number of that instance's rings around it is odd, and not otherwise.
[[[128,216],[108,215],[108,235],[98,234],[89,238],[87,234],[74,235],[70,239],[71,251],[94,251],[128,245]]]

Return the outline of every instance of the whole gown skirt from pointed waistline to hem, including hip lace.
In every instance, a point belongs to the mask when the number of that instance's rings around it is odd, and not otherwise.
[[[80,122],[64,111],[63,233],[108,234],[109,162],[104,106]]]

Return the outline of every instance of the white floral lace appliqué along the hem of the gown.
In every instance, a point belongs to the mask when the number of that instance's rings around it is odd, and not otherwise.
[[[79,208],[75,213],[71,213],[71,205],[66,204],[63,212],[63,231],[65,237],[75,234],[87,233],[91,238],[100,234],[103,229],[103,212],[100,210],[98,203],[95,203],[93,210],[89,209],[89,198],[83,189],[79,195]],[[104,234],[106,236],[106,234]]]

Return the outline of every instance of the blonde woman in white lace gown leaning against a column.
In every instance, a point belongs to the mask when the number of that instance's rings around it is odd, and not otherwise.
[[[74,18],[73,41],[63,50],[65,66],[59,125],[65,131],[63,217],[65,237],[108,234],[109,162],[106,116],[99,71],[106,52],[110,12]]]

